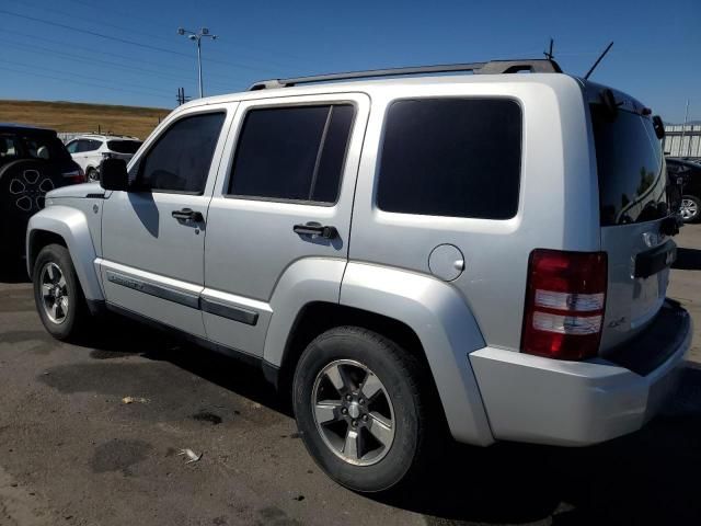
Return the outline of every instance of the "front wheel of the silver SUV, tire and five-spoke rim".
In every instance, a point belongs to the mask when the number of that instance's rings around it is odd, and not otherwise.
[[[66,247],[49,244],[36,258],[34,300],[42,323],[58,340],[74,339],[90,311]]]

